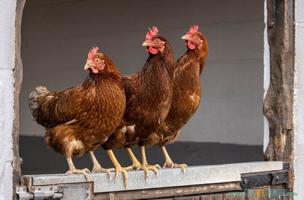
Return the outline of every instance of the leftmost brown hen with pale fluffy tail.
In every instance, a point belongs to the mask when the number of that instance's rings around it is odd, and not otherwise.
[[[119,125],[126,106],[121,76],[108,56],[91,50],[85,64],[89,71],[85,81],[72,88],[49,92],[38,86],[29,95],[32,120],[46,128],[47,147],[67,158],[67,174],[82,173],[88,179],[88,169],[75,168],[71,157],[88,152],[94,165],[92,172],[110,171],[97,162],[93,151]]]

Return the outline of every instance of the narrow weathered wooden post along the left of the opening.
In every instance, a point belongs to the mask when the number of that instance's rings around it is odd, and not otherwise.
[[[13,199],[16,197],[15,187],[20,184],[21,169],[19,158],[19,93],[22,84],[22,62],[20,56],[20,44],[21,44],[21,18],[25,0],[17,0],[16,6],[16,54],[15,54],[15,69],[14,78],[14,129],[13,129]]]

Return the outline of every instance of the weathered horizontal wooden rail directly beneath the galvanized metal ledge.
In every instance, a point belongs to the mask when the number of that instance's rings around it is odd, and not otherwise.
[[[203,193],[223,192],[223,191],[236,191],[242,190],[240,182],[217,183],[217,184],[204,184],[204,185],[189,185],[171,188],[153,188],[133,191],[118,191],[118,192],[105,192],[96,193],[92,200],[135,200],[135,199],[150,199],[150,198],[167,198],[174,196],[195,195]]]

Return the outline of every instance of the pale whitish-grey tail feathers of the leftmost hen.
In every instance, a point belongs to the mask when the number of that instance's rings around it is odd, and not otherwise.
[[[40,105],[41,100],[45,95],[50,93],[46,87],[38,85],[34,91],[29,94],[29,109],[32,113],[31,119],[36,120],[37,117],[37,107]]]

